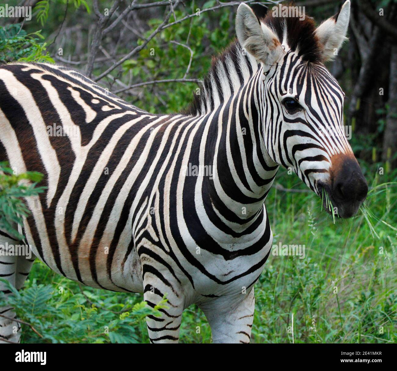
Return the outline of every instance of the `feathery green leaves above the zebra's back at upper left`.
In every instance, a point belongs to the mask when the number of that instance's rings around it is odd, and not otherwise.
[[[54,63],[46,51],[47,43],[40,39],[44,39],[41,30],[28,34],[18,23],[0,27],[0,62]]]

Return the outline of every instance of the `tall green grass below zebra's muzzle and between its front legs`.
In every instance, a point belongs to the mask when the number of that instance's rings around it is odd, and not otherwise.
[[[376,175],[364,206],[348,220],[326,214],[314,193],[269,194],[273,243],[305,245],[306,256],[270,254],[255,285],[251,342],[397,342],[397,183],[389,179],[395,174]],[[275,182],[304,189],[283,170]],[[183,314],[184,342],[210,342],[197,313],[194,306]],[[194,325],[204,327],[201,336]]]

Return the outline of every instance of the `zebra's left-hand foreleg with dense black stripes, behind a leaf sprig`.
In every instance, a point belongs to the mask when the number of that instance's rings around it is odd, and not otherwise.
[[[164,294],[167,294],[166,307],[160,308],[161,317],[148,315],[146,325],[151,343],[177,343],[184,301],[175,291],[175,286],[168,280],[162,280],[160,272],[156,270],[146,272],[143,279],[143,298],[150,307],[158,305]]]

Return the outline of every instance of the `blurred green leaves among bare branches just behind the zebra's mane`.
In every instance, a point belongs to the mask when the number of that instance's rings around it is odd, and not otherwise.
[[[204,8],[210,6],[213,5],[206,4]],[[197,6],[192,4],[191,14],[195,13],[195,8]],[[210,55],[217,54],[229,44],[230,30],[233,29],[233,25],[229,22],[229,8],[222,9],[220,19],[216,19],[219,25],[213,32],[210,31],[212,19],[209,13],[204,14],[192,17],[190,21],[182,22],[175,27],[168,27],[157,34],[139,52],[139,56],[123,63],[125,75],[131,74],[134,81],[182,78],[189,65],[191,53],[188,48],[171,43],[177,41],[189,46],[193,51],[192,66],[186,78],[203,77],[210,68]],[[179,10],[175,11],[177,19],[181,19],[184,15],[186,14],[182,14]],[[150,29],[143,36],[149,37],[163,21],[163,19],[150,19],[148,21]],[[173,21],[175,19],[171,17],[168,23]],[[209,47],[204,41],[209,41]],[[139,45],[142,43],[142,40],[138,41]],[[154,94],[153,85],[147,85],[143,88],[144,97],[139,97],[139,103],[135,100],[132,100],[132,103],[139,104],[141,108],[151,113],[179,112],[193,101],[196,89],[196,83],[164,83],[156,86],[156,90],[160,92]],[[125,99],[131,100],[131,97]]]

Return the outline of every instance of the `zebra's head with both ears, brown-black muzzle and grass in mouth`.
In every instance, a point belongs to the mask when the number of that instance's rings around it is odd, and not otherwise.
[[[237,38],[260,64],[256,99],[268,155],[322,197],[328,212],[327,198],[348,218],[368,186],[345,136],[344,93],[323,63],[347,39],[350,1],[317,28],[296,8],[279,5],[258,20],[241,4]]]

